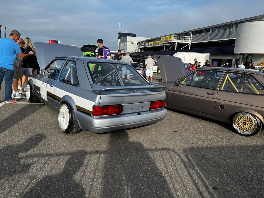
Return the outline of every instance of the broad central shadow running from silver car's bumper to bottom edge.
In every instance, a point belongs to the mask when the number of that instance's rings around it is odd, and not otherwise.
[[[173,197],[148,151],[126,132],[111,134],[104,171],[102,197]]]

